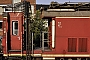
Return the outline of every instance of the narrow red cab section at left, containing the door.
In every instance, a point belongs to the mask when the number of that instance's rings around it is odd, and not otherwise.
[[[20,54],[22,52],[22,41],[24,34],[24,19],[22,12],[10,12],[3,19],[3,54]]]

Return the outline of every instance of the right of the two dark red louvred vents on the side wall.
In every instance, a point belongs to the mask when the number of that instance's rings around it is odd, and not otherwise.
[[[87,52],[87,38],[79,38],[78,51]]]

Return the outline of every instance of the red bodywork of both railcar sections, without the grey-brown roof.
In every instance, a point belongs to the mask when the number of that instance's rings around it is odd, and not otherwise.
[[[10,19],[9,19],[10,17]],[[9,13],[3,19],[4,56],[26,55],[23,48],[23,13]],[[52,20],[55,21],[55,39],[52,41]],[[17,27],[15,27],[17,26]],[[15,30],[16,29],[16,30]],[[34,50],[34,57],[90,57],[90,17],[55,17],[49,21],[49,51]],[[54,42],[54,45],[53,43]],[[54,46],[54,47],[52,47]]]

